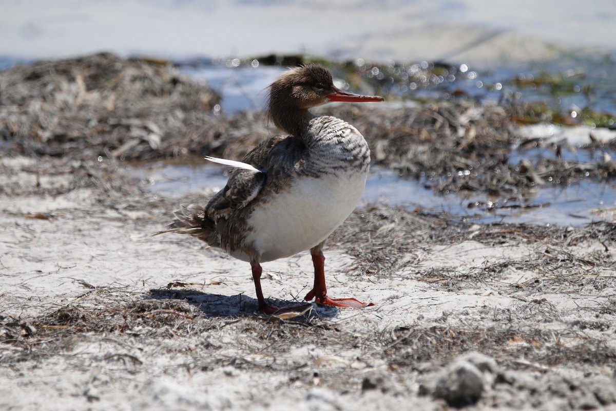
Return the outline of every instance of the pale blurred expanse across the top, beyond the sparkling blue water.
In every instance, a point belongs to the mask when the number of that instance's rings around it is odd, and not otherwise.
[[[0,56],[309,53],[485,68],[545,59],[549,46],[613,52],[615,21],[611,0],[2,0]]]

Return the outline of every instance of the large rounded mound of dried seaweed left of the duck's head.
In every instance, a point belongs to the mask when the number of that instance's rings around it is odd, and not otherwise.
[[[0,135],[14,154],[152,158],[209,128],[219,101],[169,65],[108,53],[17,65],[0,73]]]

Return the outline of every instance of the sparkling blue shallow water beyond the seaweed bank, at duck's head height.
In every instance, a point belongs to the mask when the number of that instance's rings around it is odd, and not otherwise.
[[[482,102],[510,99],[545,102],[551,110],[573,116],[582,109],[616,116],[616,55],[611,54],[568,54],[551,62],[490,70],[464,63],[390,62],[373,67],[357,59],[355,64],[362,86],[368,87],[365,92],[384,96],[389,102],[456,96]],[[284,67],[264,66],[256,59],[188,60],[179,66],[181,73],[221,92],[221,110],[227,115],[262,108],[267,97],[265,88],[283,70]],[[334,81],[339,87],[349,88],[342,79],[336,79],[335,70]]]

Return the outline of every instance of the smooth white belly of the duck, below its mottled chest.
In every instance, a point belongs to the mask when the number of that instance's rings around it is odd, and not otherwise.
[[[261,253],[262,262],[309,250],[351,214],[362,198],[366,177],[358,171],[298,177],[290,190],[275,194],[253,211],[246,242]]]

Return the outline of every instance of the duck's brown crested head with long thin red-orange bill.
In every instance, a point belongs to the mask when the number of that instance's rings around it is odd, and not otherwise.
[[[302,123],[310,119],[308,109],[330,101],[376,102],[383,97],[342,91],[326,68],[311,64],[285,71],[272,83],[267,112],[275,126],[298,135]]]

